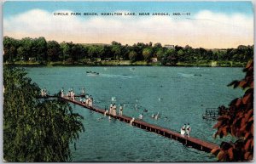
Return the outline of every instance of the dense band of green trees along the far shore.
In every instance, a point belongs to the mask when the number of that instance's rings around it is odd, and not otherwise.
[[[167,48],[157,42],[137,42],[122,45],[82,44],[73,42],[46,41],[44,37],[25,37],[20,40],[3,37],[3,62],[36,61],[39,64],[63,62],[65,64],[87,64],[98,60],[131,60],[150,63],[153,58],[161,65],[176,65],[177,62],[196,63],[198,61],[234,61],[247,63],[253,59],[253,45],[240,45],[237,48],[205,49],[173,46]]]

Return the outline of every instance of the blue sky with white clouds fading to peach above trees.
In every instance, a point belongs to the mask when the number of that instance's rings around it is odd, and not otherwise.
[[[122,13],[103,16],[101,13]],[[55,15],[68,13],[69,15]],[[82,15],[70,15],[81,13]],[[97,13],[98,15],[83,15]],[[135,13],[135,16],[124,15]],[[149,13],[139,16],[139,13]],[[168,13],[169,15],[151,15]],[[181,13],[183,15],[173,15]],[[186,14],[186,13],[189,13]],[[76,43],[160,42],[193,48],[253,44],[250,2],[19,2],[3,4],[3,36]]]

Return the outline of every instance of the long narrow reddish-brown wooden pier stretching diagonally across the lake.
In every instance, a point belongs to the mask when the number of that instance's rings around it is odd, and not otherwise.
[[[83,106],[84,108],[96,111],[98,113],[102,113],[102,114],[105,113],[105,110],[96,108],[95,106],[92,106],[92,107],[87,106],[84,103],[81,103],[77,100],[72,100],[68,97],[62,97],[62,98],[58,97],[58,98],[66,100],[68,102],[71,102],[75,105]],[[117,116],[113,116],[113,115],[109,115],[108,113],[106,113],[106,116],[111,116],[111,117],[119,120],[120,122],[130,123],[130,121],[131,121],[131,117],[125,116],[125,115],[119,116],[117,114]],[[152,132],[152,133],[160,134],[161,136],[164,136],[164,137],[169,138],[169,139],[175,139],[178,142],[181,142],[186,146],[195,148],[196,150],[211,152],[212,149],[218,148],[218,144],[212,144],[212,143],[203,141],[201,139],[195,139],[193,137],[182,137],[180,133],[173,132],[172,130],[166,129],[164,127],[158,127],[156,125],[150,124],[148,122],[143,122],[141,120],[135,119],[135,121],[132,123],[132,126],[142,128],[142,129],[144,129],[146,131],[149,131],[149,132]]]

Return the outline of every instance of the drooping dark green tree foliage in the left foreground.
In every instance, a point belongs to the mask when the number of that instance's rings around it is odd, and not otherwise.
[[[69,144],[84,131],[79,114],[60,99],[38,99],[40,88],[17,68],[3,69],[3,158],[70,161]]]

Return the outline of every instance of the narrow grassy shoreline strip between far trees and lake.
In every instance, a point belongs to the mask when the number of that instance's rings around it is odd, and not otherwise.
[[[87,63],[67,63],[67,62],[49,62],[47,64],[40,64],[38,62],[15,62],[3,63],[3,65],[10,66],[177,66],[177,67],[244,67],[247,63],[232,62],[232,61],[199,61],[196,63],[178,62],[176,65],[161,65],[160,62],[147,63],[146,61],[131,62],[130,60],[111,60],[111,61],[97,61]]]

